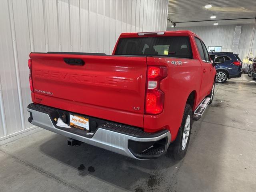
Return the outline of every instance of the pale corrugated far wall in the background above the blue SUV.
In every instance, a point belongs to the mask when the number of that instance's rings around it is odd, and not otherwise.
[[[232,44],[236,25],[220,25],[220,26],[197,26],[197,27],[180,27],[175,30],[191,30],[196,33],[206,46],[222,46],[222,51],[232,52]],[[253,36],[253,24],[242,25],[240,41],[238,45],[239,57],[244,63],[248,62],[249,48]],[[173,30],[168,28],[167,30]],[[256,35],[255,35],[256,38]],[[254,40],[252,54],[250,57],[256,56],[256,40]]]

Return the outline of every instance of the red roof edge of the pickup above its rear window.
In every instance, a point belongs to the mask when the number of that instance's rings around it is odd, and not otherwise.
[[[143,37],[143,36],[190,36],[196,35],[194,32],[189,30],[178,30],[178,31],[158,31],[158,32],[138,32],[138,33],[121,33],[120,37]],[[196,35],[197,36],[197,35]]]

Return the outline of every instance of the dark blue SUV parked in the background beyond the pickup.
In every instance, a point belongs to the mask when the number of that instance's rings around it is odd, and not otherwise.
[[[227,79],[242,75],[243,62],[238,57],[238,54],[232,52],[209,52],[209,55],[213,61],[216,57],[224,57],[224,63],[215,65],[216,83],[224,83]]]

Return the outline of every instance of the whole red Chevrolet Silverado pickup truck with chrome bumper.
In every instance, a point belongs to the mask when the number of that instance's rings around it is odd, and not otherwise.
[[[33,52],[28,66],[30,123],[140,160],[182,159],[214,95],[214,62],[190,31],[122,33],[112,55]]]

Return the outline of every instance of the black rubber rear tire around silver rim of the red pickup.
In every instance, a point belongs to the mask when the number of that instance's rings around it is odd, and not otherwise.
[[[184,134],[184,128],[185,128],[185,124],[186,124],[186,120],[187,120],[188,116],[190,116],[188,139],[187,139],[185,148],[182,148],[182,139],[183,139],[183,134]],[[168,157],[173,158],[174,160],[181,160],[186,155],[186,152],[188,150],[190,135],[191,135],[192,118],[193,118],[192,108],[189,104],[186,104],[183,118],[182,118],[182,123],[178,130],[176,140],[170,144],[170,146],[167,150]]]

